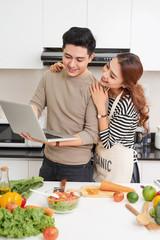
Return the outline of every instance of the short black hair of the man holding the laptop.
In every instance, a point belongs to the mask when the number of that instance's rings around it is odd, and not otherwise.
[[[63,34],[63,48],[66,44],[85,47],[88,50],[89,56],[94,52],[96,40],[88,28],[72,27]]]

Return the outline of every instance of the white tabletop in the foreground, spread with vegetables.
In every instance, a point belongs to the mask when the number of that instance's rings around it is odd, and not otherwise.
[[[79,189],[84,185],[97,185],[100,183],[78,183],[67,182],[66,189]],[[134,188],[139,194],[138,202],[131,204],[139,212],[142,211],[144,199],[142,197],[142,184],[122,184]],[[149,183],[143,185],[150,185]],[[38,190],[46,190],[60,186],[59,182],[44,182],[43,187]],[[153,185],[157,191],[157,185]],[[68,214],[54,214],[55,226],[59,230],[58,240],[107,240],[113,239],[160,239],[160,230],[149,231],[140,226],[125,204],[129,203],[125,198],[122,202],[114,202],[112,198],[84,198],[81,197],[76,211]],[[47,207],[46,197],[32,193],[27,200],[27,205]],[[150,208],[152,203],[150,203]],[[5,239],[0,237],[0,239]],[[8,238],[7,238],[8,239]],[[25,240],[43,240],[42,234],[36,237],[25,238]]]

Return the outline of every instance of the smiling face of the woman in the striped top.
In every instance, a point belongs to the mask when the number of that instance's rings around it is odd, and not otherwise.
[[[111,89],[125,87],[125,84],[123,84],[121,68],[117,58],[114,58],[103,67],[103,75],[100,83],[102,86]]]

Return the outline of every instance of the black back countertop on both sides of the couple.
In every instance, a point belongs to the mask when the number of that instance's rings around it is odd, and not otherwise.
[[[160,160],[160,150],[153,144],[136,148],[138,160]],[[0,158],[43,158],[44,148],[0,148]]]

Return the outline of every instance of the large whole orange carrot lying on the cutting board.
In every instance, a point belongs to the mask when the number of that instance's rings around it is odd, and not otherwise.
[[[116,183],[101,181],[100,190],[102,191],[113,191],[113,192],[135,192],[135,189],[125,187]]]

